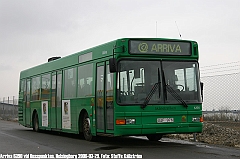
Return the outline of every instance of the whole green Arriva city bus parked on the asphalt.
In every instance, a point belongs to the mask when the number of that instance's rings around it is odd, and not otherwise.
[[[34,131],[98,136],[202,132],[198,44],[122,38],[20,73],[19,123]]]

